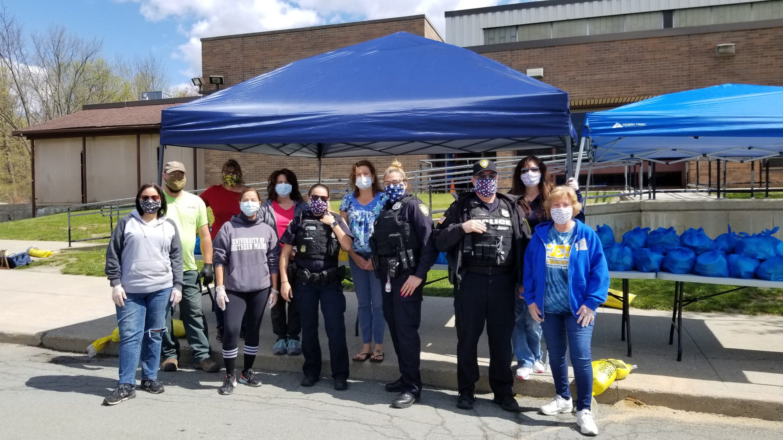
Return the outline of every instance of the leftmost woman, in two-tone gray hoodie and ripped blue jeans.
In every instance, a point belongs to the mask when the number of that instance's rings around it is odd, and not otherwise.
[[[157,185],[136,194],[136,209],[111,233],[106,276],[120,329],[120,381],[103,400],[116,405],[136,396],[136,367],[142,360],[142,388],[164,391],[157,381],[166,311],[182,298],[182,243],[174,222],[165,218],[166,199]]]

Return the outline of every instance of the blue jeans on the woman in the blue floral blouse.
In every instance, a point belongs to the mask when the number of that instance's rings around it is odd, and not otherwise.
[[[370,258],[369,252],[357,252],[363,258]],[[356,301],[359,302],[359,327],[362,329],[362,342],[370,344],[375,340],[376,344],[384,343],[384,297],[381,280],[375,276],[372,270],[359,267],[353,258],[348,257],[348,265],[351,266],[351,279],[356,290]]]

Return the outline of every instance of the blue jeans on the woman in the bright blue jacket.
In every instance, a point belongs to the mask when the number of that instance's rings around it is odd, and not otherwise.
[[[549,365],[557,395],[564,399],[571,397],[571,390],[568,388],[568,362],[565,359],[565,351],[568,350],[576,379],[574,405],[577,410],[590,409],[590,400],[593,397],[593,366],[590,358],[593,323],[583,327],[582,324],[576,323],[576,316],[571,313],[561,315],[545,312],[541,329],[547,340]]]

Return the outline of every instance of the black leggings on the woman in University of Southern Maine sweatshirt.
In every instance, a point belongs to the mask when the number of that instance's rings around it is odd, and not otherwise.
[[[236,369],[236,355],[239,354],[240,327],[242,317],[247,316],[247,334],[244,343],[244,370],[250,370],[258,354],[258,340],[261,338],[261,320],[269,301],[269,287],[252,292],[226,290],[229,301],[223,311],[225,333],[223,334],[223,362],[226,374]],[[247,311],[247,314],[245,313]]]

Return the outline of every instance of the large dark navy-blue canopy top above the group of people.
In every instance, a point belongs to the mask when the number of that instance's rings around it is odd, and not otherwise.
[[[573,139],[567,92],[405,32],[169,107],[161,121],[162,146],[319,161],[543,147],[571,153]]]

